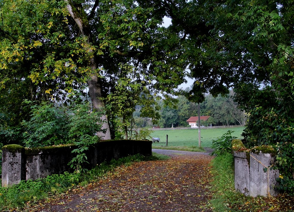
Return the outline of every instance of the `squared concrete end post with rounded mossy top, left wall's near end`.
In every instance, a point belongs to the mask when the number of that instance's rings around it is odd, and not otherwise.
[[[25,180],[24,147],[16,144],[2,148],[2,187]]]

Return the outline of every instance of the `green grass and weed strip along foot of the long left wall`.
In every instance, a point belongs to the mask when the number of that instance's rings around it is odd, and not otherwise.
[[[53,174],[44,179],[21,181],[9,188],[0,188],[0,211],[24,211],[25,207],[31,207],[42,199],[105,179],[112,175],[118,166],[129,166],[133,162],[158,159],[168,158],[161,154],[152,154],[150,157],[134,155],[111,160],[109,163],[101,163],[85,173],[65,172],[64,174]]]

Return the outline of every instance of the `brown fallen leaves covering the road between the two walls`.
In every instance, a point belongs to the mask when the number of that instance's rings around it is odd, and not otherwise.
[[[104,179],[47,198],[27,212],[210,212],[210,161],[201,154],[120,166]]]

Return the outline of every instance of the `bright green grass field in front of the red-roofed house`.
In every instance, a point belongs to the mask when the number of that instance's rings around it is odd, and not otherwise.
[[[217,139],[224,133],[234,131],[232,136],[242,139],[244,127],[230,127],[220,129],[201,129],[201,147],[211,147],[212,140]],[[198,129],[178,129],[178,130],[158,130],[153,131],[152,137],[160,138],[160,142],[152,144],[152,148],[162,149],[166,146],[166,135],[168,135],[168,149],[183,149],[188,147],[190,150],[198,149]],[[166,148],[165,148],[166,149]]]

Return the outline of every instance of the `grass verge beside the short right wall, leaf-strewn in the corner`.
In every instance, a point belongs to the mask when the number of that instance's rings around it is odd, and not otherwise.
[[[212,161],[213,197],[207,207],[214,212],[294,212],[294,197],[280,194],[277,197],[248,197],[234,189],[233,155],[223,154]]]

